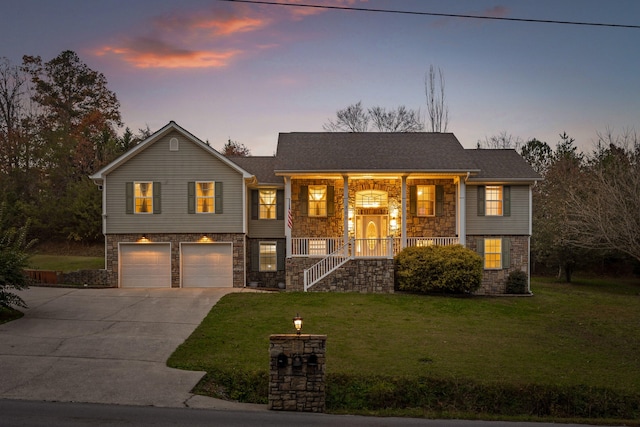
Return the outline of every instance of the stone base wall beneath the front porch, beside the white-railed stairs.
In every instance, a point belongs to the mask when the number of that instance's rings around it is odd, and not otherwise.
[[[304,291],[304,270],[320,261],[320,258],[289,258],[287,263],[287,290]],[[325,277],[310,292],[360,292],[393,293],[393,259],[358,258]]]

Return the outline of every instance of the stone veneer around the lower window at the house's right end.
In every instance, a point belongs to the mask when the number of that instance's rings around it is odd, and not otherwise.
[[[504,294],[509,273],[522,270],[529,274],[529,236],[467,236],[467,248],[475,251],[478,239],[491,237],[509,237],[511,240],[511,266],[501,270],[483,270],[482,285],[476,291],[477,295]]]

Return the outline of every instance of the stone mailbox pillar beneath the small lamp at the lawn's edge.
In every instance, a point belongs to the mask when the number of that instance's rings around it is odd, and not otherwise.
[[[324,412],[326,335],[271,335],[269,337],[269,409]],[[285,355],[286,366],[278,365]],[[292,366],[294,357],[302,365]],[[317,365],[310,366],[310,357]]]

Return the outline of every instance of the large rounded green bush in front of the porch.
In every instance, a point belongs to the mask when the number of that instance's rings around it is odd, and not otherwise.
[[[469,293],[482,283],[482,257],[462,245],[414,246],[396,255],[395,271],[401,291]]]

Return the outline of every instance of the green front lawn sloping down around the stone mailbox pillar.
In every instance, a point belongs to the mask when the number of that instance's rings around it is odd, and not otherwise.
[[[264,402],[264,384],[253,394],[230,389],[268,381],[269,335],[293,333],[291,320],[300,313],[303,333],[328,335],[328,410],[340,411],[331,396],[340,394],[338,387],[353,387],[350,381],[381,378],[377,387],[393,388],[394,381],[423,378],[529,394],[531,387],[597,389],[635,399],[634,411],[640,400],[640,284],[536,280],[532,290],[534,297],[521,298],[231,294],[168,363],[207,371],[203,393],[222,390]],[[396,413],[384,413],[389,409]]]

